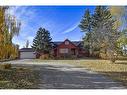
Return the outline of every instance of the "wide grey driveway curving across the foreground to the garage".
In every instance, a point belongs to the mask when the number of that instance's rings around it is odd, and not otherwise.
[[[88,69],[67,63],[32,62],[32,60],[11,61],[13,66],[29,67],[39,73],[40,89],[123,89],[115,82]]]

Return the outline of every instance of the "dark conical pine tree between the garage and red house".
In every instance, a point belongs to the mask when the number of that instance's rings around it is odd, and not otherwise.
[[[32,48],[36,52],[42,52],[44,54],[50,53],[52,49],[52,38],[50,37],[50,33],[45,28],[39,28],[37,31],[36,37],[33,40]]]

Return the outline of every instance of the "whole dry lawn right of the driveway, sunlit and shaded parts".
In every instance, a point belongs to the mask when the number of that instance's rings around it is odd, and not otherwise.
[[[114,81],[120,81],[127,86],[127,61],[117,60],[111,63],[108,60],[86,59],[86,60],[34,60],[34,62],[68,63],[74,64],[91,71],[99,72],[110,77]]]

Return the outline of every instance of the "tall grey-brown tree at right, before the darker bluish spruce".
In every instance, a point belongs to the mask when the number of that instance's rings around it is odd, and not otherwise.
[[[97,6],[93,15],[94,41],[100,46],[100,52],[108,54],[110,60],[114,62],[116,53],[116,41],[119,31],[114,27],[115,20],[110,10],[104,6]]]

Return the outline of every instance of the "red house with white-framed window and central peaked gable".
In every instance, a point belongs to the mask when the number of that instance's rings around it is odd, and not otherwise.
[[[82,41],[70,41],[53,43],[53,55],[55,57],[83,57],[88,56],[88,51],[83,47]]]

